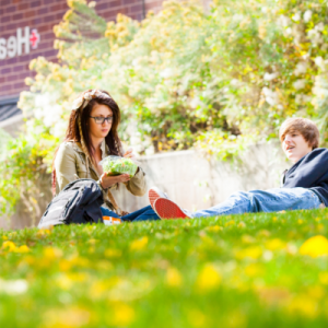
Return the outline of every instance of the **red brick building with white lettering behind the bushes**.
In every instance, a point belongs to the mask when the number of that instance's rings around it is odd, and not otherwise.
[[[157,12],[163,0],[96,0],[96,11],[106,21],[118,13],[142,20]],[[28,63],[38,56],[56,61],[57,25],[68,10],[67,0],[0,0],[0,128],[15,136],[23,121],[17,108],[20,92],[31,77]]]

